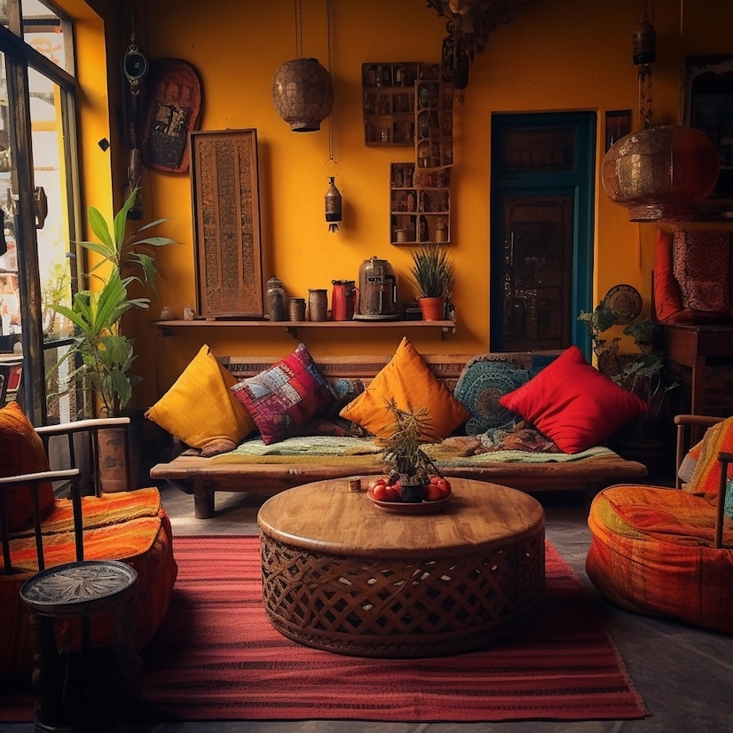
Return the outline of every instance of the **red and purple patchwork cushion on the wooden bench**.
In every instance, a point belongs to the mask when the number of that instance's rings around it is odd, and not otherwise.
[[[286,359],[234,384],[232,391],[267,445],[296,436],[311,417],[334,400],[326,378],[303,343]]]

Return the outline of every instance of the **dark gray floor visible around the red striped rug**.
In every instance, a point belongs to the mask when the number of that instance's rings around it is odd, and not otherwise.
[[[262,499],[217,494],[217,516],[193,517],[193,497],[162,487],[174,535],[256,533]],[[539,495],[547,536],[595,594],[585,573],[589,542],[584,502],[578,496]],[[503,723],[375,723],[363,721],[229,721],[126,724],[118,733],[725,733],[733,731],[733,638],[672,620],[637,616],[597,595],[616,642],[650,716],[641,721],[521,721]],[[32,724],[0,724],[2,733],[31,733]]]

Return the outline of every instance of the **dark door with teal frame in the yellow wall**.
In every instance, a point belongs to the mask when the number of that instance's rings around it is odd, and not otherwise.
[[[492,117],[492,351],[589,353],[595,126],[592,112]]]

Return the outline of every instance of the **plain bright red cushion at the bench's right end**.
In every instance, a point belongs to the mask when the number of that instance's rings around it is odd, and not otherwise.
[[[499,404],[532,422],[564,453],[600,443],[647,408],[641,398],[590,366],[577,346]]]

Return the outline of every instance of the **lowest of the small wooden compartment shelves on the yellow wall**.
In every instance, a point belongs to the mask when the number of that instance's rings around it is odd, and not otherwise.
[[[451,240],[451,169],[415,172],[415,164],[390,165],[390,241],[424,244]]]

